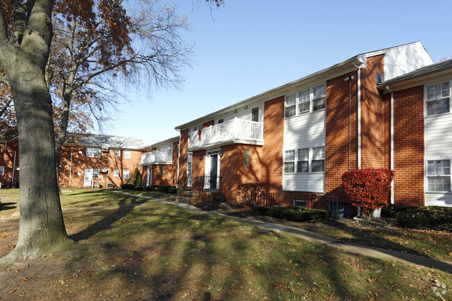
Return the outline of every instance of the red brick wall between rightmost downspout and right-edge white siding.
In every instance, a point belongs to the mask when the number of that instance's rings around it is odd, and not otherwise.
[[[391,95],[387,95],[389,99]],[[394,92],[394,202],[424,204],[423,86]]]

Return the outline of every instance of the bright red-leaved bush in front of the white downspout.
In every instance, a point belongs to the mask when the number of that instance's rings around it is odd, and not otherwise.
[[[363,215],[369,215],[374,209],[386,206],[392,179],[394,171],[384,168],[364,168],[342,174],[342,184],[348,200],[354,206],[361,206]]]

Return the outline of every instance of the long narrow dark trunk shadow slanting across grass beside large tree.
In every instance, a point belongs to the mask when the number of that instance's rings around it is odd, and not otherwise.
[[[84,229],[83,231],[80,231],[79,233],[72,234],[70,236],[71,239],[74,241],[83,241],[84,239],[88,239],[95,234],[99,233],[100,231],[104,231],[106,229],[111,229],[112,225],[117,222],[118,220],[124,218],[124,216],[128,215],[135,209],[136,206],[139,206],[141,204],[144,204],[147,202],[146,199],[143,199],[141,197],[132,197],[130,200],[130,204],[126,204],[126,200],[129,197],[122,198],[120,202],[118,203],[119,208],[115,212],[111,213],[110,215],[106,216],[102,220],[99,220],[95,222],[94,224],[90,225],[88,228]]]

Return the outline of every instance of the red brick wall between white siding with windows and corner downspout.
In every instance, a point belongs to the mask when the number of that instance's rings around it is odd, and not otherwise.
[[[345,81],[347,76],[355,78]],[[357,168],[357,72],[331,79],[326,86],[325,194],[344,195],[341,176]]]

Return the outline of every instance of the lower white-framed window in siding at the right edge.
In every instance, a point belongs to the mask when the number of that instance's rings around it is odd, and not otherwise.
[[[451,161],[427,161],[427,191],[449,192],[451,190]]]

